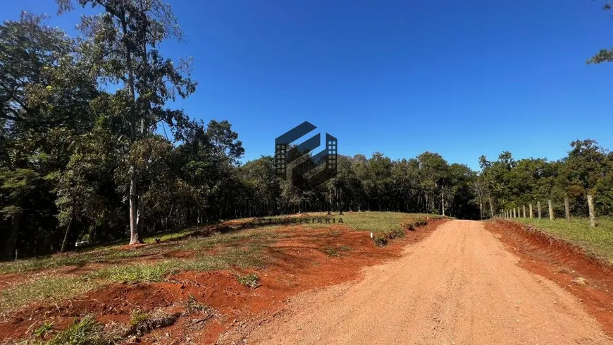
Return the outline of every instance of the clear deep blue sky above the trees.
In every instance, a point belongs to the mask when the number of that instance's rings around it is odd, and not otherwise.
[[[613,47],[601,1],[171,1],[185,32],[169,57],[193,56],[197,92],[177,107],[228,119],[246,159],[302,121],[339,153],[393,159],[430,150],[478,167],[503,150],[559,159],[571,140],[613,149]],[[3,19],[53,0],[4,1]],[[91,12],[91,11],[89,11]]]

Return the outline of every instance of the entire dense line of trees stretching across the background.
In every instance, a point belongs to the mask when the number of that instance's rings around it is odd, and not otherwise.
[[[181,37],[166,4],[78,2],[100,10],[82,17],[79,38],[30,13],[0,25],[4,259],[83,240],[137,243],[218,219],[339,208],[478,219],[561,195],[585,212],[590,192],[600,214],[613,212],[613,157],[591,140],[574,142],[557,162],[481,157],[481,171],[433,152],[340,156],[338,176],[304,192],[275,176],[270,156],[241,164],[244,149],[228,121],[194,121],[167,107],[197,85],[189,61],[159,52],[161,41]],[[73,9],[68,0],[58,4]]]

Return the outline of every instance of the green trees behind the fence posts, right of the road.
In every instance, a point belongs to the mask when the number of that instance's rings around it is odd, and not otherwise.
[[[478,195],[485,205],[491,203],[493,214],[513,207],[552,200],[555,212],[564,212],[564,198],[569,198],[571,214],[588,214],[587,195],[595,198],[596,214],[613,214],[613,153],[595,140],[575,140],[567,157],[515,160],[511,152],[502,152],[496,161],[479,159],[481,173]],[[482,206],[483,207],[483,206]]]

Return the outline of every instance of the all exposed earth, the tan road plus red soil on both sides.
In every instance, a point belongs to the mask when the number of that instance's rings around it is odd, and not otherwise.
[[[256,289],[237,282],[247,270],[180,272],[25,308],[0,337],[87,314],[125,325],[137,309],[179,315],[140,344],[613,344],[610,268],[521,224],[436,220],[383,248],[342,224],[277,231]],[[322,250],[338,246],[351,250]],[[190,298],[213,311],[186,313]]]

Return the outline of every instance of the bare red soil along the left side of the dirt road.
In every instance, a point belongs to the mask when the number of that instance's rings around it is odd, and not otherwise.
[[[398,258],[407,243],[421,241],[442,222],[445,220],[431,221],[416,231],[407,231],[406,237],[384,248],[373,245],[369,232],[338,224],[326,229],[287,227],[280,230],[287,236],[266,248],[271,265],[256,272],[260,277],[256,289],[237,282],[236,274],[247,273],[240,269],[181,272],[155,284],[117,284],[60,305],[40,304],[14,313],[10,320],[0,322],[0,339],[27,337],[45,321],[54,321],[56,329],[63,329],[74,317],[91,313],[99,322],[128,324],[132,310],[185,311],[185,303],[193,296],[215,309],[216,317],[204,320],[185,314],[174,325],[141,337],[141,344],[213,344],[221,333],[247,327],[246,321],[276,315],[297,293],[359,279],[362,267]],[[328,255],[324,251],[327,247],[338,250],[340,256]],[[184,252],[173,256],[190,255]]]

